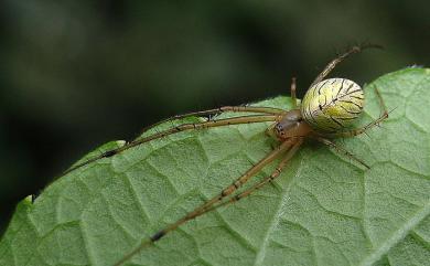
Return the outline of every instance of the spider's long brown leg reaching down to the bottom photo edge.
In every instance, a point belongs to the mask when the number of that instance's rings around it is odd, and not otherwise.
[[[268,166],[270,162],[279,158],[284,151],[290,149],[292,145],[294,145],[297,140],[286,140],[282,142],[276,150],[271,151],[269,155],[267,155],[265,158],[262,158],[260,161],[258,161],[254,167],[248,169],[243,175],[240,175],[235,182],[233,182],[230,185],[228,185],[226,189],[224,189],[218,195],[212,198],[211,200],[206,201],[202,205],[194,209],[194,211],[189,212],[185,216],[178,220],[176,222],[165,226],[163,230],[157,232],[153,234],[149,240],[142,241],[142,243],[137,246],[135,249],[132,249],[130,253],[125,255],[119,262],[115,264],[115,266],[119,266],[136,254],[138,254],[142,248],[146,246],[151,245],[152,243],[155,243],[170,232],[174,231],[182,224],[186,223],[190,220],[193,220],[203,213],[207,212],[206,210],[211,209],[212,205],[216,204],[217,202],[222,202],[226,196],[234,193],[237,189],[239,189],[243,184],[245,184],[251,177],[254,177],[256,173],[258,173],[262,168]]]

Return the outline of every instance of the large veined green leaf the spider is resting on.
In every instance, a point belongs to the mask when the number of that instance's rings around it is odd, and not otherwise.
[[[362,125],[380,114],[374,86],[389,119],[368,137],[336,140],[369,170],[308,142],[275,183],[186,223],[126,265],[430,265],[430,70],[369,84]],[[290,99],[258,105],[288,109]],[[112,265],[264,158],[275,145],[267,126],[181,132],[58,178],[18,205],[0,265]]]

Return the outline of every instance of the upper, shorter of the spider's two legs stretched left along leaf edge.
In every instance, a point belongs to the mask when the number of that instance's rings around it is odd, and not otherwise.
[[[232,111],[232,113],[257,113],[257,114],[267,114],[267,115],[278,115],[282,114],[286,110],[272,107],[258,107],[258,106],[223,106],[215,109],[191,111],[182,115],[175,115],[169,118],[165,118],[161,121],[158,121],[151,126],[148,126],[141,130],[141,134],[148,131],[151,128],[154,128],[161,124],[173,121],[178,119],[183,119],[192,116],[209,116],[209,115],[219,115],[222,113]]]

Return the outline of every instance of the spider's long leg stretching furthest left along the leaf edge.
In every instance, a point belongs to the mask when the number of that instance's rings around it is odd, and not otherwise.
[[[97,161],[103,158],[109,158],[117,153],[120,153],[125,150],[128,150],[130,148],[133,148],[136,146],[146,143],[148,141],[152,141],[155,139],[163,138],[169,135],[186,131],[186,130],[197,130],[197,129],[204,129],[204,128],[212,128],[212,127],[222,127],[222,126],[229,126],[229,125],[240,125],[240,124],[252,124],[252,123],[265,123],[265,121],[276,121],[279,119],[279,115],[252,115],[252,116],[238,116],[238,117],[232,117],[232,118],[224,118],[218,120],[207,120],[202,123],[190,123],[190,124],[182,124],[175,127],[172,127],[170,129],[155,132],[148,137],[142,137],[139,139],[136,139],[122,147],[119,147],[117,149],[108,150],[106,152],[103,152],[99,156],[93,157],[82,163],[75,164],[74,167],[66,170],[63,174],[66,174],[68,172],[72,172],[80,167],[87,166],[94,161]]]

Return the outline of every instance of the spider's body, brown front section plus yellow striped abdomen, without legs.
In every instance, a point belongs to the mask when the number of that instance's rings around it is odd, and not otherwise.
[[[363,105],[363,89],[353,81],[324,79],[311,86],[300,108],[286,111],[279,121],[269,128],[273,131],[269,135],[284,141],[289,138],[336,132],[359,117]],[[294,103],[293,106],[297,104]]]

